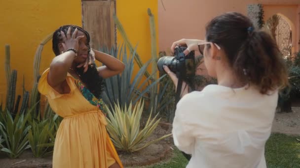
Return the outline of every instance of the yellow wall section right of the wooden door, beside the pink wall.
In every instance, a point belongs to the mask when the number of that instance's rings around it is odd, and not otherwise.
[[[158,4],[157,0],[116,0],[116,15],[121,22],[129,41],[137,47],[137,53],[143,63],[151,58],[150,21],[147,9],[150,8],[155,18],[155,30],[158,54]],[[117,45],[123,43],[122,36],[117,32]],[[139,71],[138,64],[134,64],[134,74]],[[148,68],[151,73],[150,68]]]

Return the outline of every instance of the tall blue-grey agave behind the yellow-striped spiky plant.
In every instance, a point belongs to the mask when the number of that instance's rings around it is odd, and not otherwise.
[[[118,102],[121,107],[125,107],[125,105],[129,105],[130,101],[133,100],[133,104],[135,104],[142,97],[149,100],[149,96],[147,97],[146,94],[150,92],[150,88],[158,84],[158,82],[165,77],[164,75],[156,81],[150,82],[151,77],[156,74],[155,72],[142,83],[142,78],[145,75],[147,67],[152,62],[152,59],[141,67],[136,76],[133,76],[133,56],[136,49],[133,53],[130,53],[129,56],[127,55],[126,46],[121,46],[120,49],[112,49],[111,51],[107,49],[100,49],[100,51],[118,58],[125,64],[125,69],[121,74],[105,80],[105,90],[102,97],[107,105],[113,106]],[[143,89],[148,82],[150,85]]]

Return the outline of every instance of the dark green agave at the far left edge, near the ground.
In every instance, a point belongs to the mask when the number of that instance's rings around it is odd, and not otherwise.
[[[29,115],[30,112],[26,115],[18,112],[13,119],[7,110],[0,113],[0,133],[4,140],[0,151],[7,153],[10,158],[16,158],[30,148],[28,131],[31,126],[26,125]]]

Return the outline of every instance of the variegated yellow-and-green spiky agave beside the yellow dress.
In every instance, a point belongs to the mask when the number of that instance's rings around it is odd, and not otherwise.
[[[107,107],[107,130],[113,144],[118,150],[136,152],[172,135],[168,134],[156,140],[146,142],[157,127],[160,118],[156,119],[158,114],[151,118],[152,112],[150,112],[146,125],[141,129],[140,121],[143,110],[144,100],[137,102],[134,108],[132,108],[132,103],[130,103],[128,107],[125,106],[125,108],[122,108],[120,104],[115,104],[113,111]]]

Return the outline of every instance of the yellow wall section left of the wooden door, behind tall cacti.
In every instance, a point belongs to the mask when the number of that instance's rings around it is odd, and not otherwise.
[[[0,0],[0,16],[0,96],[5,99],[4,45],[10,45],[11,69],[18,71],[17,94],[22,93],[23,75],[25,87],[31,91],[34,55],[40,41],[61,25],[81,25],[81,1]],[[49,66],[53,56],[50,41],[44,47],[40,71]]]

